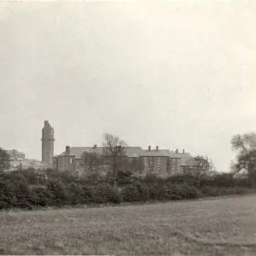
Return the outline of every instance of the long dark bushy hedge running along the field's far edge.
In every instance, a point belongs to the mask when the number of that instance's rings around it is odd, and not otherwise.
[[[231,173],[204,177],[198,183],[193,175],[136,177],[131,172],[118,172],[117,187],[113,183],[111,174],[102,177],[91,173],[81,178],[52,170],[0,172],[0,209],[172,201],[252,191],[246,178]]]

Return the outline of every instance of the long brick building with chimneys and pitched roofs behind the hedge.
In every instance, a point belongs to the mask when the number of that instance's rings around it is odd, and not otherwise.
[[[74,172],[79,176],[83,176],[88,171],[88,163],[84,163],[83,154],[95,152],[103,154],[103,148],[97,147],[66,147],[66,150],[61,154],[55,155],[53,158],[53,169],[58,172]],[[120,168],[124,169],[129,166],[132,172],[138,174],[156,174],[159,176],[170,176],[183,173],[181,168],[183,158],[188,157],[188,154],[178,154],[169,149],[148,149],[140,147],[125,148],[125,157],[122,158]],[[125,165],[124,165],[125,163]],[[90,166],[91,167],[91,166]],[[96,169],[98,166],[94,166]],[[107,172],[110,168],[108,165],[101,166],[102,172]]]

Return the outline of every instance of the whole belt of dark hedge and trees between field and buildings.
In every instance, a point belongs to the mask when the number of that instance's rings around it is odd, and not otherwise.
[[[236,135],[231,140],[237,162],[230,173],[214,171],[212,160],[198,155],[190,160],[183,175],[138,176],[142,166],[137,159],[125,158],[127,144],[119,137],[104,134],[102,153],[84,152],[82,163],[89,167],[86,177],[72,172],[34,169],[3,172],[9,155],[0,148],[0,209],[62,207],[65,205],[119,204],[121,202],[177,201],[206,196],[243,195],[256,184],[256,134]],[[95,148],[96,149],[96,148]],[[102,166],[112,166],[102,175]],[[236,173],[247,170],[247,177]],[[137,174],[136,174],[137,173]]]

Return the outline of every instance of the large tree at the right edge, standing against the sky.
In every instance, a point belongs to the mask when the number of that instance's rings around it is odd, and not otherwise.
[[[256,185],[256,134],[249,132],[231,138],[231,147],[237,152],[234,172],[247,171],[247,179],[252,187]]]

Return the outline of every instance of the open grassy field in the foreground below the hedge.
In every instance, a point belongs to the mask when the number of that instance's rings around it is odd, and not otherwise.
[[[2,212],[0,224],[0,254],[256,254],[255,195]]]

